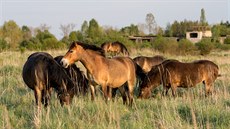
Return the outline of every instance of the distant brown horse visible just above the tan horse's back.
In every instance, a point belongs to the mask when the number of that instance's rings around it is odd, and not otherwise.
[[[124,44],[121,42],[105,42],[101,45],[101,48],[106,53],[111,53],[112,56],[117,56],[119,54],[122,54],[124,56],[129,56],[128,49],[125,47]]]

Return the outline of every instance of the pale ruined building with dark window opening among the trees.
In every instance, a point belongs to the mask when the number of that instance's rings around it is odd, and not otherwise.
[[[202,38],[211,38],[212,32],[208,26],[193,26],[186,32],[186,39],[190,40],[192,43],[197,43],[202,40]]]

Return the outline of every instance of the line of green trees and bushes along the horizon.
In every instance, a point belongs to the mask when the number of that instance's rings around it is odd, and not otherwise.
[[[148,13],[146,15],[145,22],[146,23],[138,25],[131,24],[129,26],[122,27],[121,29],[116,29],[111,26],[100,26],[95,19],[84,21],[80,30],[75,30],[75,25],[73,23],[60,25],[60,30],[63,33],[63,37],[62,39],[58,40],[52,33],[49,32],[50,27],[46,24],[42,24],[37,28],[28,27],[26,25],[20,27],[15,21],[10,20],[6,21],[2,26],[0,26],[0,51],[8,49],[23,51],[26,49],[60,49],[69,46],[69,44],[73,41],[82,41],[95,45],[100,45],[106,41],[120,41],[127,47],[141,46],[156,48],[158,45],[157,42],[138,45],[130,41],[128,36],[156,35],[159,37],[158,40],[160,41],[162,40],[162,37],[185,38],[186,31],[190,30],[193,26],[206,26],[212,31],[212,41],[208,42],[218,43],[218,37],[230,35],[230,23],[228,21],[221,21],[219,24],[209,25],[206,21],[205,12],[203,9],[201,10],[200,21],[174,21],[171,24],[168,23],[165,29],[157,25],[155,17],[152,13]],[[230,44],[229,37],[225,39],[225,44]],[[158,46],[161,45],[159,44]]]

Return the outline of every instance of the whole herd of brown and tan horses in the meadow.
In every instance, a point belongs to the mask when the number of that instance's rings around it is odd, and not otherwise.
[[[112,43],[97,47],[81,42],[73,42],[64,56],[53,58],[45,52],[31,54],[24,64],[22,77],[34,91],[38,107],[49,105],[53,89],[61,105],[70,104],[74,95],[86,95],[89,87],[91,99],[94,100],[96,85],[101,86],[106,102],[114,98],[116,90],[119,90],[123,103],[130,106],[137,85],[138,98],[151,97],[151,91],[161,84],[163,95],[171,88],[175,96],[177,87],[194,87],[200,82],[205,84],[208,95],[219,76],[218,66],[209,60],[183,63],[163,56],[138,56],[132,59],[122,43],[114,44],[119,50],[116,53],[123,53],[124,56],[106,57],[105,52],[113,50]],[[75,65],[77,61],[86,68],[87,77]]]

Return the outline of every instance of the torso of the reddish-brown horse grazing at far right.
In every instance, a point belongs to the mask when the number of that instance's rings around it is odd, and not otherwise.
[[[218,76],[218,66],[208,60],[191,63],[169,62],[164,66],[166,82],[178,86],[195,86],[200,82],[213,82]]]

